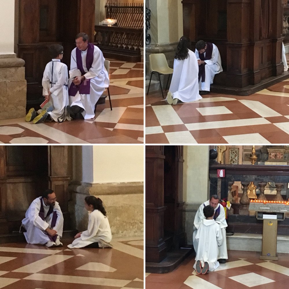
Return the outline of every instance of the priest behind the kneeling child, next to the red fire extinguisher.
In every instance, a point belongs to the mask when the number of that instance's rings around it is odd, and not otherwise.
[[[199,242],[196,240],[197,230],[199,229],[200,224],[202,223],[203,219],[205,219],[205,215],[203,213],[203,209],[205,206],[212,206],[214,208],[214,220],[220,223],[221,234],[222,234],[222,244],[218,247],[219,254],[218,254],[218,262],[219,263],[226,263],[228,259],[227,253],[227,240],[226,240],[226,227],[227,222],[225,219],[225,210],[224,207],[219,203],[219,197],[217,195],[212,195],[210,200],[205,201],[205,203],[201,204],[194,219],[194,232],[193,232],[193,245],[195,252],[198,251]]]

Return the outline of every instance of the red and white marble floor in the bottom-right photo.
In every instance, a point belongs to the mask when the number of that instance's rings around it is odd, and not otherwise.
[[[278,254],[278,261],[260,260],[260,252],[228,251],[228,261],[216,271],[199,275],[193,269],[191,255],[173,272],[146,273],[146,289],[285,289],[288,288],[288,254]]]

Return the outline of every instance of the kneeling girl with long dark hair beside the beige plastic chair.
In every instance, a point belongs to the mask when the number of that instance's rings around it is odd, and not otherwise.
[[[202,99],[199,95],[199,65],[196,55],[191,51],[190,39],[182,36],[177,46],[174,72],[166,100],[177,104],[178,100],[190,102]]]

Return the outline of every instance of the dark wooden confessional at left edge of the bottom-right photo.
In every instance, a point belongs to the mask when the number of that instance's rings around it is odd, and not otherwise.
[[[146,262],[185,242],[183,146],[146,146]]]

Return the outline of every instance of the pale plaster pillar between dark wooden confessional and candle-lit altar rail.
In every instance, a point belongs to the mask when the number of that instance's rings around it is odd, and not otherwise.
[[[210,195],[209,147],[184,146],[184,160],[184,201],[203,203]]]

